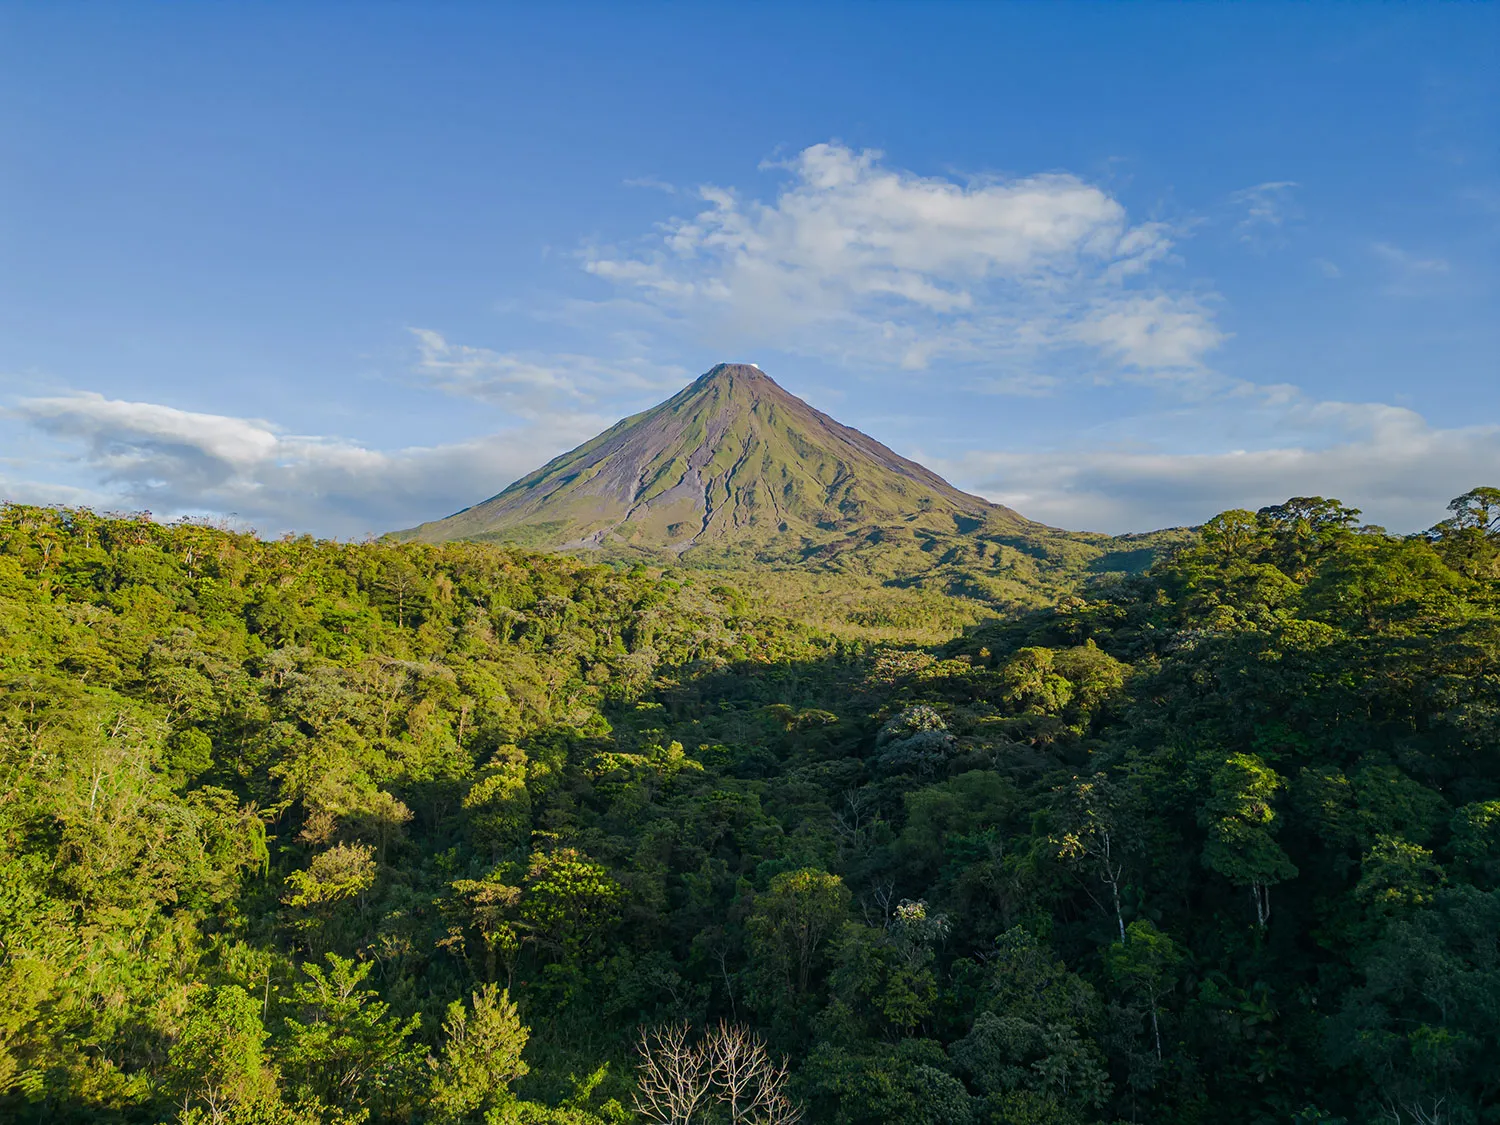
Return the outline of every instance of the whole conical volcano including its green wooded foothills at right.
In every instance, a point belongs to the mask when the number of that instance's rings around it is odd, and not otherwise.
[[[722,363],[501,494],[394,537],[771,570],[783,585],[798,570],[813,597],[843,596],[848,580],[826,582],[838,576],[1020,608],[1143,570],[1188,536],[1036,524],[960,492],[759,368]]]

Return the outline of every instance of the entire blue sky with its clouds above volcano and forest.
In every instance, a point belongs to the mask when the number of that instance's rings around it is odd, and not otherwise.
[[[718,360],[1072,528],[1500,484],[1500,6],[0,4],[0,496],[360,536]]]

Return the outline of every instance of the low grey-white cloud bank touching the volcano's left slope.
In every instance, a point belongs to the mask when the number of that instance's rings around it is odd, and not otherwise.
[[[554,416],[476,441],[381,452],[87,392],[22,399],[9,412],[60,440],[99,488],[0,480],[4,498],[236,514],[262,532],[326,536],[390,531],[474,504],[614,422]]]

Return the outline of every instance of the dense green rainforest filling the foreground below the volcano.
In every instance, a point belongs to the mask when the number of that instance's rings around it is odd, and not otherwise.
[[[1500,1122],[1500,490],[954,620],[3,508],[0,1118]]]

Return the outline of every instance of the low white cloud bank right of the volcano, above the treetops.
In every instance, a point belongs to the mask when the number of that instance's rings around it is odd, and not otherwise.
[[[1282,440],[1263,448],[1172,453],[1138,447],[1048,453],[970,452],[940,470],[982,496],[1068,528],[1144,531],[1200,524],[1232,507],[1256,508],[1293,495],[1336,496],[1365,519],[1418,531],[1452,496],[1500,484],[1500,426],[1436,429],[1384,404],[1308,402],[1290,388],[1262,394],[1276,432],[1323,432],[1323,444]],[[938,466],[938,465],[934,465]]]

